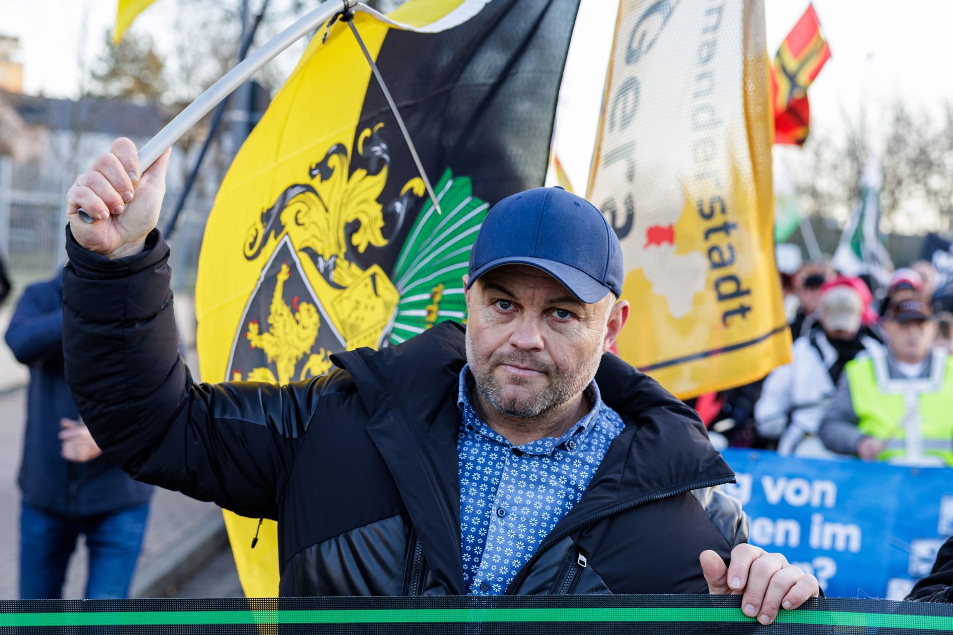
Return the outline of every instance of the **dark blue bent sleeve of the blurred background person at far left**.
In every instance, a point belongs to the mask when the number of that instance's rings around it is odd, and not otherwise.
[[[58,352],[63,344],[63,311],[57,305],[50,310],[44,306],[41,288],[28,287],[10,318],[7,327],[7,346],[20,364],[35,364]]]

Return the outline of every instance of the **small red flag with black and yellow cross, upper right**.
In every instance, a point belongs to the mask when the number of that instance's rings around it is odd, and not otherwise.
[[[830,56],[818,14],[813,5],[808,5],[775,55],[771,88],[776,144],[801,146],[807,139],[811,121],[807,87]]]

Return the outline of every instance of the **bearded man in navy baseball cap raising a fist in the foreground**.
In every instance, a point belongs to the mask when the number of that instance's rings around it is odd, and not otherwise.
[[[286,386],[199,386],[175,347],[170,249],[154,229],[167,165],[142,172],[119,139],[70,189],[67,380],[135,478],[280,519],[282,595],[708,590],[742,593],[766,624],[818,594],[743,544],[738,502],[715,489],[731,468],[698,416],[602,356],[629,305],[618,240],[589,203],[532,189],[490,211],[464,277],[465,332],[442,322],[339,352]],[[132,200],[112,178],[129,171]],[[105,201],[126,203],[79,219]]]

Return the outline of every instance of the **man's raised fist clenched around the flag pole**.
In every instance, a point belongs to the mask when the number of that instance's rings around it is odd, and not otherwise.
[[[143,173],[135,145],[120,137],[109,152],[95,158],[89,171],[76,177],[67,192],[67,217],[81,247],[109,258],[142,251],[159,219],[169,153],[167,149]],[[90,214],[92,223],[79,217],[80,208]]]

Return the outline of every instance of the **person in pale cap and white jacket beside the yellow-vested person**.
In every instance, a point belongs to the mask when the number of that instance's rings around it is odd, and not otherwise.
[[[834,396],[844,365],[865,349],[881,347],[862,333],[863,303],[854,288],[828,288],[819,310],[819,322],[795,340],[791,363],[764,380],[755,405],[760,435],[777,439],[783,455],[829,453],[816,438],[823,407]]]

